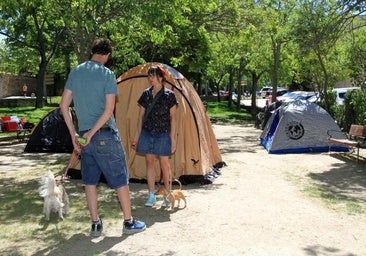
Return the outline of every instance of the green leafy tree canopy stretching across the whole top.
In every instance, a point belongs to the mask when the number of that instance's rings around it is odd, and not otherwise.
[[[324,93],[345,77],[365,85],[365,10],[348,0],[0,0],[0,71],[31,70],[40,107],[46,72],[67,76],[104,37],[116,74],[158,61],[199,88],[241,90],[245,76],[253,94],[263,85]]]

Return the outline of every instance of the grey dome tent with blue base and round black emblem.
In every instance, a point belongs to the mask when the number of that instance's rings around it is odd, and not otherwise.
[[[319,105],[309,101],[293,101],[277,108],[260,136],[268,153],[348,152],[349,148],[328,141],[332,136],[344,139],[345,135]]]

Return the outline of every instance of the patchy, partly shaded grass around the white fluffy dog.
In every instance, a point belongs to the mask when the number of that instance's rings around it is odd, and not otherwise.
[[[62,173],[53,166],[49,168],[55,174]],[[43,199],[38,195],[39,180],[43,175],[45,171],[37,169],[1,174],[2,255],[65,255],[65,251],[57,248],[67,248],[72,246],[72,241],[76,243],[89,237],[90,217],[80,180],[64,183],[70,200],[65,219],[60,221],[52,213],[50,221],[46,221],[42,213]],[[122,213],[114,190],[101,183],[98,192],[103,221],[110,228],[118,226],[121,229]]]

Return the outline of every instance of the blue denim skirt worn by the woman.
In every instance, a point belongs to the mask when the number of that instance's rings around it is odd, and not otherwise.
[[[168,132],[154,133],[142,130],[137,142],[136,152],[157,156],[170,156],[172,154],[172,141]]]

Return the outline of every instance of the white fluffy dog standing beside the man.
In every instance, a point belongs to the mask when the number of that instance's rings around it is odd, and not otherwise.
[[[50,219],[51,212],[57,212],[59,218],[63,220],[63,214],[66,214],[69,207],[69,197],[65,188],[61,184],[57,184],[51,171],[42,177],[39,195],[44,198],[43,213],[46,220]]]

